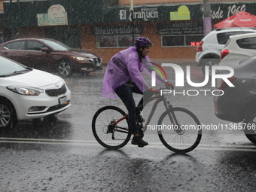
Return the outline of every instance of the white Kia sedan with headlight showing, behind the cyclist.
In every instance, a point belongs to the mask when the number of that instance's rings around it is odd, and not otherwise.
[[[71,92],[59,76],[0,56],[0,130],[19,120],[57,114],[69,108]]]

